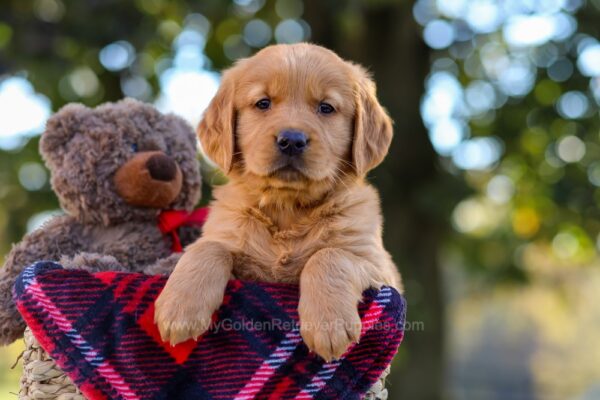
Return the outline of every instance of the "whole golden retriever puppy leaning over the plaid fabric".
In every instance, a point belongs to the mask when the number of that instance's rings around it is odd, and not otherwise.
[[[230,181],[156,301],[163,339],[202,335],[235,276],[298,283],[304,342],[338,358],[359,337],[363,290],[401,290],[365,182],[392,139],[373,81],[316,45],[267,47],[225,71],[198,134]]]

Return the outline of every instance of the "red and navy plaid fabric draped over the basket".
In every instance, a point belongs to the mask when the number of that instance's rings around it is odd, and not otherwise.
[[[233,280],[213,328],[172,347],[153,323],[166,279],[39,262],[21,274],[14,296],[34,336],[89,399],[359,399],[403,337],[402,296],[368,290],[359,344],[327,363],[300,337],[297,286]]]

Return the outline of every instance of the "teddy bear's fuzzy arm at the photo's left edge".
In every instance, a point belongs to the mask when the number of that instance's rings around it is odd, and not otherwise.
[[[23,269],[36,261],[58,261],[62,255],[81,249],[81,235],[73,234],[68,216],[54,217],[14,245],[0,269],[0,346],[20,338],[25,329],[12,299],[12,287]]]

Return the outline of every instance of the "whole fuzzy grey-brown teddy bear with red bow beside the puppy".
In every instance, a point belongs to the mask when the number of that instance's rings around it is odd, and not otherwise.
[[[200,198],[196,137],[181,118],[131,99],[70,104],[48,120],[40,153],[65,215],[25,236],[0,269],[0,345],[23,334],[12,286],[31,263],[169,273],[174,246],[200,235],[198,226],[166,234],[158,225],[162,210],[189,212]]]

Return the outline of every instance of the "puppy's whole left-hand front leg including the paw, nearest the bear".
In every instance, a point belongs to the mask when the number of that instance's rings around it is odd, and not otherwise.
[[[186,248],[155,303],[163,340],[175,345],[206,332],[232,267],[231,253],[218,242],[201,239]]]

